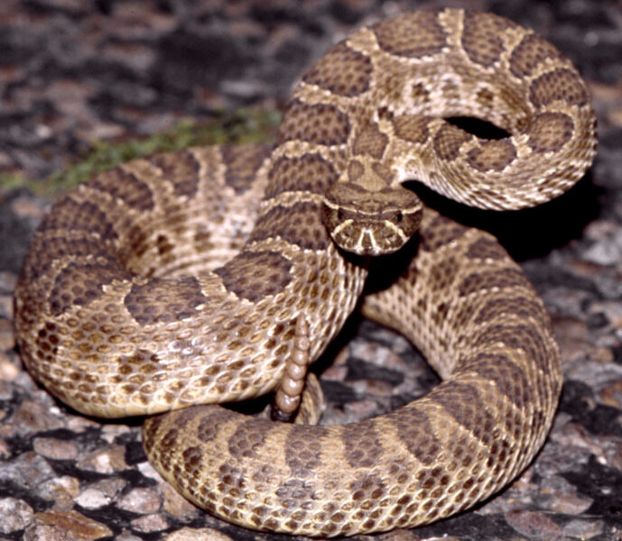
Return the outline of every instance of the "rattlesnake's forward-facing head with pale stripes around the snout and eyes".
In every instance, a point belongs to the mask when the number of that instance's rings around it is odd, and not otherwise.
[[[399,250],[419,228],[422,202],[406,188],[371,191],[339,182],[324,195],[323,220],[333,241],[357,255]]]

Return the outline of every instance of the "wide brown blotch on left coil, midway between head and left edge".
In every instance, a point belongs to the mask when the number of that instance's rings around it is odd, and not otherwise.
[[[196,308],[208,298],[193,276],[178,279],[154,278],[145,284],[135,283],[125,296],[124,304],[141,325],[171,323],[197,314]]]

